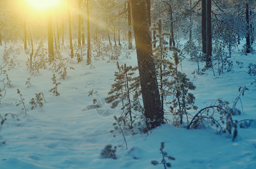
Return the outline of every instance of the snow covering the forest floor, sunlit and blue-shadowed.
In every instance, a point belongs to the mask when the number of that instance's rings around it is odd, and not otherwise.
[[[1,46],[0,53],[3,51],[4,46]],[[235,141],[228,134],[216,134],[211,127],[187,130],[172,126],[170,122],[155,128],[149,135],[127,134],[126,150],[122,135],[113,137],[110,133],[113,115],[119,115],[121,110],[109,109],[103,101],[114,82],[115,61],[93,61],[94,68],[90,68],[86,60],[76,64],[74,59],[74,63],[68,65],[75,70],[68,69],[66,79],[60,79],[55,73],[57,82],[61,83],[58,86],[60,96],[56,97],[49,92],[54,87],[53,73],[41,69],[39,74],[31,77],[26,66],[29,55],[23,50],[20,52],[14,59],[15,68],[7,71],[12,86],[6,86],[6,96],[0,105],[2,116],[14,113],[19,121],[8,116],[2,126],[0,168],[163,168],[162,164],[150,164],[153,159],[161,160],[159,148],[162,141],[164,150],[176,158],[170,161],[172,168],[256,168],[255,121],[249,128],[238,127]],[[68,57],[68,54],[64,56]],[[250,84],[255,77],[247,73],[249,63],[256,64],[255,54],[240,55],[236,49],[231,59],[234,66],[231,72],[214,76],[207,70],[204,75],[196,74],[195,78],[191,73],[197,70],[197,64],[188,59],[183,61],[183,72],[197,86],[192,91],[196,105],[202,109],[218,98],[228,100],[232,105],[239,95],[238,87],[246,86],[249,91],[241,96],[243,112],[233,118],[256,119],[256,84]],[[121,56],[118,61],[134,66],[136,52],[131,53],[131,58]],[[237,65],[236,61],[244,64]],[[201,63],[201,68],[203,65]],[[31,77],[31,87],[25,85],[28,77]],[[20,100],[18,88],[29,109],[27,116],[22,110],[23,105],[15,106]],[[97,94],[88,96],[92,90]],[[44,93],[46,103],[42,108],[31,110],[29,101],[39,92]],[[94,98],[98,100],[97,109],[92,108]],[[239,101],[236,108],[241,109]],[[100,158],[101,149],[107,144],[117,146],[117,159]]]

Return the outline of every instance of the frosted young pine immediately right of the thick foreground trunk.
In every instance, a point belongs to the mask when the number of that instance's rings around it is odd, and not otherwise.
[[[173,120],[176,126],[183,124],[183,116],[186,116],[188,121],[189,113],[187,110],[197,109],[194,105],[195,97],[189,90],[195,90],[193,82],[190,82],[185,73],[179,72],[177,66],[179,65],[179,56],[177,52],[173,52],[174,64],[165,60],[167,71],[163,73],[163,86],[164,90],[162,95],[172,96],[172,99],[167,102],[170,104],[170,113],[173,115]]]

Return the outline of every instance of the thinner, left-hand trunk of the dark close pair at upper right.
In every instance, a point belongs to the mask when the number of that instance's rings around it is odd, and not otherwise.
[[[206,0],[202,0],[202,51],[206,54]]]

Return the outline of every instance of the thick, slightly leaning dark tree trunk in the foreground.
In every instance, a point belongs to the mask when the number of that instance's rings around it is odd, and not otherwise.
[[[149,28],[149,14],[145,0],[131,0],[133,32],[136,43],[138,70],[142,99],[145,109],[145,117],[149,129],[160,126],[163,123],[163,109],[160,103],[157,76],[151,45],[151,33]]]

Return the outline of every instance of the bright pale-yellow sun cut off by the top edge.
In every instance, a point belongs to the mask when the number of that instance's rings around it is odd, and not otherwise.
[[[37,10],[47,10],[60,5],[61,0],[27,0]]]

